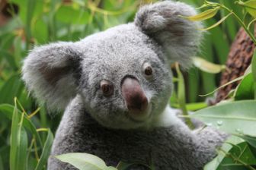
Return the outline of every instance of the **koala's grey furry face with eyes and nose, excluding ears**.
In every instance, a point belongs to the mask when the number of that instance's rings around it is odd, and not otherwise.
[[[171,72],[154,50],[158,45],[133,24],[88,38],[77,44],[86,47],[79,90],[88,113],[110,128],[149,124],[171,95]]]

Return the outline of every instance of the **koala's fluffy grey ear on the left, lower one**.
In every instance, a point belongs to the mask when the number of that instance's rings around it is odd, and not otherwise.
[[[34,48],[24,60],[23,80],[40,102],[64,109],[78,89],[81,55],[73,42]]]

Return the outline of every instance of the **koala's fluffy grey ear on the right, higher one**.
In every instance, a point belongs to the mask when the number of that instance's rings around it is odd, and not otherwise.
[[[201,32],[198,28],[201,26],[199,22],[181,16],[194,14],[194,8],[182,2],[157,2],[142,6],[134,23],[162,46],[170,63],[178,61],[183,68],[188,68],[190,57],[196,54],[200,44]]]

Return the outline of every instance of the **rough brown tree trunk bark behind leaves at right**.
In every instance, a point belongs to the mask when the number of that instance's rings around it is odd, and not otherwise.
[[[245,73],[246,68],[251,64],[254,47],[254,42],[252,42],[251,38],[245,33],[245,30],[241,28],[229,51],[228,60],[226,61],[227,69],[222,73],[220,86]],[[238,83],[239,81],[220,89],[216,95],[216,102],[227,99],[229,92],[235,89]]]

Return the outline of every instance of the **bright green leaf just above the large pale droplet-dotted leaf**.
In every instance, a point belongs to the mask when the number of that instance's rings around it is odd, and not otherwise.
[[[254,80],[252,74],[246,75],[235,90],[235,100],[254,99]]]

